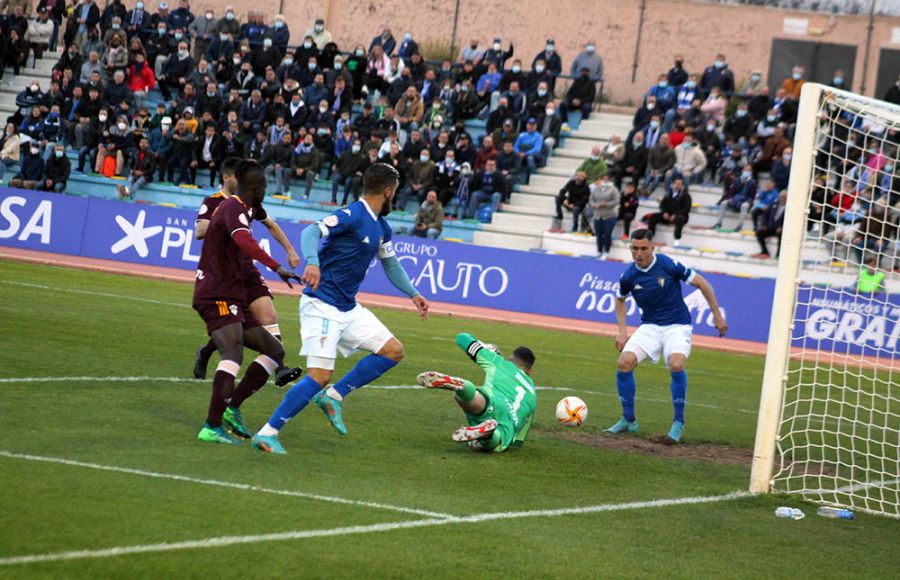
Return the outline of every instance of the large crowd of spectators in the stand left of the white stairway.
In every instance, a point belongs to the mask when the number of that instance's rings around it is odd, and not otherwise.
[[[432,65],[411,33],[388,28],[339,47],[322,19],[298,38],[280,15],[195,14],[187,0],[156,11],[141,0],[40,0],[32,20],[30,0],[9,3],[7,67],[18,73],[63,48],[9,119],[3,165],[20,162],[26,186],[65,187],[43,179],[62,145],[62,159],[77,152],[71,171],[125,178],[123,197],[151,182],[213,187],[218,163],[242,155],[266,167],[276,194],[309,198],[316,180],[330,180],[331,202],[346,203],[382,161],[400,172],[398,206],[419,204],[424,235],[439,235],[437,209],[497,211],[559,145],[568,111],[590,114],[603,74],[587,43],[557,108],[563,66],[552,39],[528,60],[501,38],[472,39],[457,60]],[[476,117],[487,128],[479,139],[465,127]]]

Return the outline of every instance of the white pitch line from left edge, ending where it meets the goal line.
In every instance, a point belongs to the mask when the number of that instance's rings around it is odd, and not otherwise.
[[[39,461],[42,463],[54,463],[57,465],[67,465],[70,467],[82,467],[86,469],[94,469],[97,471],[110,471],[113,473],[124,473],[128,475],[139,475],[141,477],[150,477],[156,479],[168,479],[171,481],[183,481],[186,483],[196,483],[200,485],[211,485],[215,487],[226,487],[229,489],[239,489],[242,491],[253,491],[257,493],[269,493],[272,495],[282,495],[282,496],[290,496],[290,497],[299,497],[303,499],[311,499],[317,501],[324,501],[329,503],[337,503],[343,505],[355,505],[361,507],[368,507],[373,509],[382,509],[387,511],[395,511],[402,512],[407,514],[415,514],[419,516],[427,516],[430,518],[440,518],[440,519],[453,519],[456,516],[453,514],[444,514],[440,512],[432,512],[428,510],[420,510],[416,508],[407,508],[403,506],[396,506],[385,503],[371,502],[371,501],[360,501],[355,499],[346,499],[342,497],[334,497],[327,495],[320,495],[316,493],[305,493],[302,491],[291,491],[286,489],[273,489],[268,487],[260,487],[257,485],[251,485],[247,483],[234,483],[230,481],[220,481],[216,479],[200,479],[196,477],[189,477],[187,475],[179,475],[176,473],[160,473],[157,471],[146,471],[143,469],[132,469],[130,467],[116,467],[114,465],[102,465],[99,463],[87,463],[84,461],[74,461],[71,459],[64,459],[62,457],[47,457],[43,455],[28,455],[24,453],[13,453],[10,451],[0,450],[0,457],[6,457],[8,459],[21,459],[25,461]]]

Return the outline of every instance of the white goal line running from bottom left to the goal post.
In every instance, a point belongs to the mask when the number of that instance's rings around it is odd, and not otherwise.
[[[555,510],[533,510],[521,512],[496,512],[463,516],[450,519],[425,519],[403,522],[389,522],[372,524],[367,526],[349,526],[342,528],[330,528],[320,530],[296,530],[291,532],[278,532],[272,534],[256,534],[247,536],[219,536],[200,540],[188,540],[183,542],[165,542],[161,544],[145,544],[133,546],[118,546],[102,550],[74,550],[69,552],[54,552],[49,554],[31,554],[25,556],[10,556],[0,558],[0,566],[12,566],[22,564],[40,564],[45,562],[58,562],[61,560],[84,560],[98,558],[113,558],[129,554],[147,554],[158,552],[172,552],[176,550],[208,549],[233,546],[236,544],[258,544],[263,542],[283,542],[288,540],[302,540],[307,538],[323,538],[333,536],[346,536],[354,534],[373,534],[390,532],[410,528],[424,528],[446,526],[450,524],[478,524],[483,522],[513,520],[521,518],[555,518],[570,515],[593,514],[602,512],[615,512],[624,510],[637,510],[680,505],[694,505],[733,501],[749,497],[751,494],[745,491],[728,493],[725,495],[683,497],[675,499],[658,499],[652,501],[638,501],[628,503],[603,504],[576,508],[564,508]]]

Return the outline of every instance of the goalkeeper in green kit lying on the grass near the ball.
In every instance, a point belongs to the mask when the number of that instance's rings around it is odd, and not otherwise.
[[[456,394],[469,424],[457,429],[453,440],[468,443],[472,449],[498,453],[521,446],[537,407],[530,377],[534,353],[520,346],[506,360],[497,347],[465,333],[456,336],[456,344],[484,369],[484,386],[476,387],[470,381],[436,371],[418,376],[423,387]]]

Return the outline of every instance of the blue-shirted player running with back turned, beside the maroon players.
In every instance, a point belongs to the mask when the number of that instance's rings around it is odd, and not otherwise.
[[[386,163],[376,163],[363,176],[363,197],[303,230],[300,248],[307,266],[306,289],[300,299],[301,355],[307,374],[285,394],[269,422],[253,436],[257,449],[284,453],[278,432],[312,399],[341,434],[342,401],[403,360],[403,345],[368,309],[356,303],[356,293],[372,260],[378,256],[388,280],[409,296],[424,320],[428,301],[412,285],[391,246],[391,226],[384,219],[391,211],[400,174]],[[319,247],[319,242],[325,241]],[[369,351],[334,386],[331,382],[338,353],[347,357]]]

